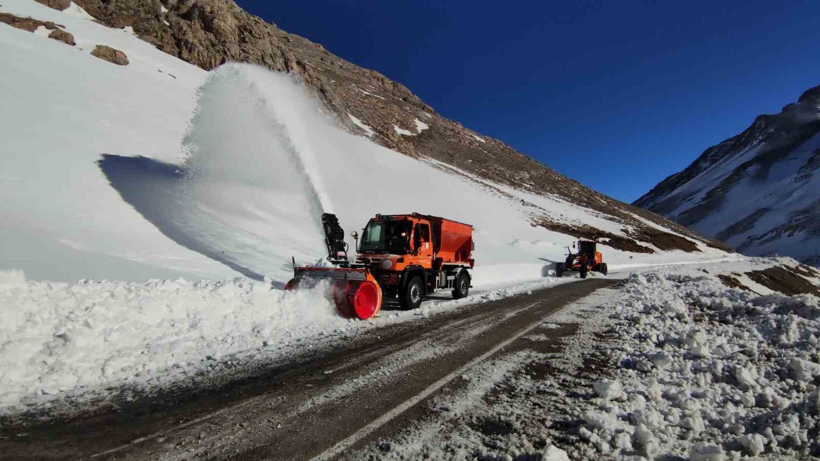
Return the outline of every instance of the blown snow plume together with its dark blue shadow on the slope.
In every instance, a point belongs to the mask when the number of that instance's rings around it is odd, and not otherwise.
[[[163,234],[281,286],[291,257],[321,257],[320,217],[333,207],[310,133],[332,134],[333,123],[291,75],[230,64],[198,89],[185,162],[105,155],[98,163]]]

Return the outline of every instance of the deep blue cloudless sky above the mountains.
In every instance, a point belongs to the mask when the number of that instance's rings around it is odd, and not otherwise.
[[[820,84],[820,2],[239,0],[631,202]]]

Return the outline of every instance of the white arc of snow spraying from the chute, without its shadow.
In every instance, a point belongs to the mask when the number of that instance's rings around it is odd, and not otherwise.
[[[228,64],[209,75],[198,98],[184,141],[195,177],[261,187],[296,180],[312,189],[316,208],[333,212],[310,136],[333,121],[294,76]]]

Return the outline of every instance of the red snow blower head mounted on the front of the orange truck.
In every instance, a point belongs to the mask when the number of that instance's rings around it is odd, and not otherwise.
[[[330,280],[330,293],[327,296],[345,317],[365,320],[380,313],[381,288],[372,274],[364,268],[294,267],[294,278],[288,281],[285,290],[315,285],[312,282],[321,280]]]

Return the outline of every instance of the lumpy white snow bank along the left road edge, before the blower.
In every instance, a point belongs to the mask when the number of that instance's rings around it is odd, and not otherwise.
[[[0,272],[7,280],[10,272]],[[16,281],[22,272],[11,272]],[[30,281],[0,290],[0,412],[63,391],[162,386],[229,354],[343,328],[323,287],[270,282]]]

